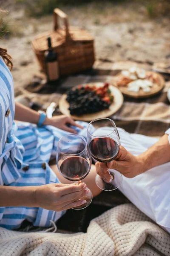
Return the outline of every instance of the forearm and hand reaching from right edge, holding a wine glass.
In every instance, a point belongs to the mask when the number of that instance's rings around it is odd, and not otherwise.
[[[159,166],[170,161],[170,144],[168,135],[165,134],[161,139],[139,156],[134,156],[124,147],[120,148],[115,160],[109,163],[96,163],[96,172],[107,182],[110,175],[107,168],[116,169],[122,175],[133,178],[153,167]]]

